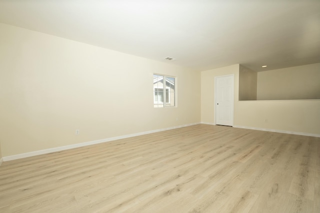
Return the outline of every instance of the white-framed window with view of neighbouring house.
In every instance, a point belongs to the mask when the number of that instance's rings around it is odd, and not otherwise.
[[[153,74],[153,104],[154,107],[175,106],[175,77]]]

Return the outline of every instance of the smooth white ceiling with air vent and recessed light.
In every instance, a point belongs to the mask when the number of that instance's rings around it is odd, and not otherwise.
[[[0,0],[0,22],[199,71],[320,62],[320,0]]]

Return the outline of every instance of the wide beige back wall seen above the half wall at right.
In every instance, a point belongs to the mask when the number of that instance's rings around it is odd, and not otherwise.
[[[320,63],[257,74],[257,100],[320,99]]]

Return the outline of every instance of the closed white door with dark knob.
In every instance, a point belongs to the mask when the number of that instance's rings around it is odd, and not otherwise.
[[[215,124],[233,126],[234,75],[217,76],[215,82]]]

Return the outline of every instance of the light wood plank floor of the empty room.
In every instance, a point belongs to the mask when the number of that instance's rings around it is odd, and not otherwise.
[[[195,125],[0,166],[1,213],[319,213],[320,138]]]

